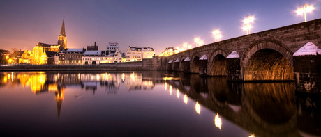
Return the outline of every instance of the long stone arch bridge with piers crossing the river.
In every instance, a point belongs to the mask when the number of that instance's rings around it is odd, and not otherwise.
[[[292,81],[303,68],[320,73],[321,52],[293,56],[308,42],[321,46],[321,19],[214,42],[157,60],[161,70],[227,76],[232,81]],[[302,65],[304,60],[314,62]]]

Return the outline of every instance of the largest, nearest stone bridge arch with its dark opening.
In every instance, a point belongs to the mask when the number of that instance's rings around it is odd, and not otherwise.
[[[258,40],[241,60],[244,81],[286,81],[294,79],[292,51],[276,40]]]

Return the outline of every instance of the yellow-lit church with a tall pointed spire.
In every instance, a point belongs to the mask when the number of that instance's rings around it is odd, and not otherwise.
[[[65,32],[65,21],[63,20],[61,25],[60,35],[58,36],[58,44],[57,45],[50,45],[38,42],[36,47],[33,48],[33,57],[32,57],[32,64],[47,64],[48,58],[51,58],[46,53],[47,51],[50,52],[59,52],[62,49],[67,49],[67,36]],[[47,56],[47,59],[46,57]],[[53,58],[53,57],[52,57]],[[46,61],[47,60],[47,61]]]

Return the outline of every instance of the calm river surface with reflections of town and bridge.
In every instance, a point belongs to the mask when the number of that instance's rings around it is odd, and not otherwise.
[[[320,95],[160,71],[0,72],[0,136],[321,136]]]

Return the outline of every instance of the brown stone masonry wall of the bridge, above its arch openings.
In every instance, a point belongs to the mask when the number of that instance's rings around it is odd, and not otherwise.
[[[193,61],[194,58],[200,58],[201,56],[206,55],[209,63],[208,70],[214,71],[211,69],[211,64],[214,62],[215,56],[221,54],[226,58],[232,51],[237,51],[240,56],[241,74],[244,75],[244,70],[246,70],[249,59],[260,49],[273,49],[278,51],[285,56],[290,62],[290,65],[293,65],[293,53],[307,42],[313,42],[318,47],[321,47],[321,19],[283,26],[277,29],[252,33],[250,35],[243,35],[237,38],[195,47],[164,58],[167,62],[163,61],[162,65],[168,65],[168,61],[175,61],[177,58],[180,62],[183,57],[189,57],[191,58],[191,61]],[[191,68],[191,70],[193,70],[193,68]],[[209,72],[209,74],[210,73],[211,72]]]

